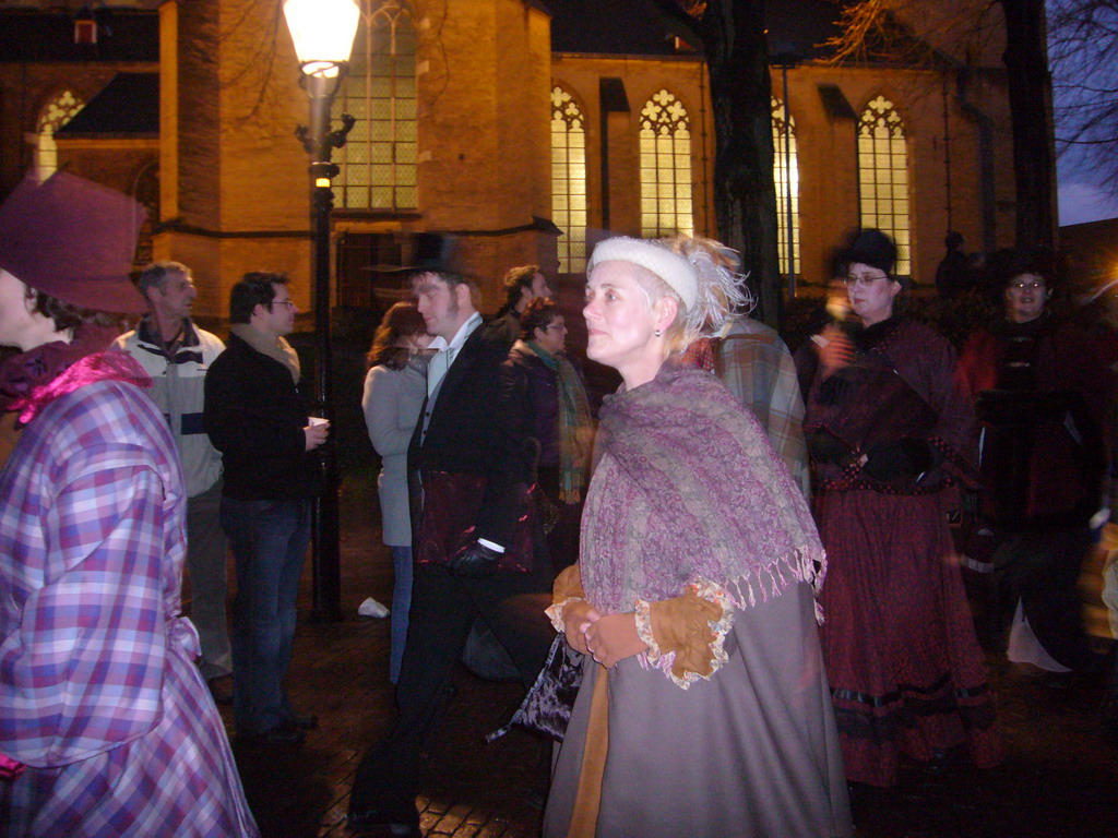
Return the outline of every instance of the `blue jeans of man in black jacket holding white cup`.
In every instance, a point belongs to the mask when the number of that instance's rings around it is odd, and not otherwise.
[[[295,640],[311,502],[222,497],[221,528],[237,564],[233,717],[238,733],[253,735],[278,726],[292,713],[283,682]]]

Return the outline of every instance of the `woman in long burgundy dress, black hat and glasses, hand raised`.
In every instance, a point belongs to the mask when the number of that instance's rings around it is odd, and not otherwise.
[[[861,326],[816,341],[804,422],[846,778],[881,787],[898,782],[901,754],[930,761],[966,746],[980,766],[1002,758],[947,523],[974,419],[950,344],[894,313],[896,258],[879,230],[851,242],[846,286]]]

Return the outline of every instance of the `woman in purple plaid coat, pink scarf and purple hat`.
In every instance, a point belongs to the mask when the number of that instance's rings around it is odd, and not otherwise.
[[[127,354],[143,211],[59,173],[0,207],[0,834],[257,836],[180,617],[186,494]]]

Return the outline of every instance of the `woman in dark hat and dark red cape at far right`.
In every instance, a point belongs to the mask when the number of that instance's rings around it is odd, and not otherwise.
[[[1102,505],[1110,373],[1095,336],[1049,311],[1051,251],[999,251],[987,280],[1005,317],[970,335],[958,378],[982,423],[995,572],[1014,594],[1010,659],[1088,668],[1078,582]]]

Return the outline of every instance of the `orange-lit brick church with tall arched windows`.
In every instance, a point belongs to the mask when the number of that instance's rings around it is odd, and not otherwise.
[[[419,231],[459,237],[487,311],[510,266],[574,283],[607,231],[719,236],[708,70],[651,0],[356,2],[333,305],[390,298],[369,268],[406,263]],[[834,2],[767,6],[789,286],[825,285],[859,225],[897,239],[918,287],[948,230],[969,250],[1013,244],[997,4],[920,4],[898,25],[931,58],[906,65],[831,61]],[[190,265],[199,315],[227,316],[255,269],[286,270],[307,310],[300,78],[280,0],[0,3],[0,197],[64,166],[149,207],[138,259]]]

